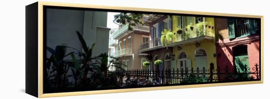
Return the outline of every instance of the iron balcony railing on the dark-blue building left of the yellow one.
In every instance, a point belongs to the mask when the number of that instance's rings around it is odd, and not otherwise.
[[[159,47],[159,46],[162,46],[161,38],[156,38],[154,40],[149,40],[149,41],[147,41],[145,43],[142,43],[140,45],[140,50],[151,49],[151,48],[155,48],[155,47]]]

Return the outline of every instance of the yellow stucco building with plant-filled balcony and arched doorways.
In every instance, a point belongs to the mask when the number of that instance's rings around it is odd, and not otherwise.
[[[172,17],[172,32],[176,36],[173,43],[175,55],[170,62],[171,69],[206,69],[214,63],[216,69],[216,45],[214,18],[199,16]]]

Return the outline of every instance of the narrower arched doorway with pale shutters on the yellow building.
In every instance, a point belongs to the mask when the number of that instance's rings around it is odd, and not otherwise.
[[[182,69],[185,71],[188,68],[187,67],[187,54],[184,51],[180,52],[180,54],[178,55],[177,68],[180,69],[180,72]]]

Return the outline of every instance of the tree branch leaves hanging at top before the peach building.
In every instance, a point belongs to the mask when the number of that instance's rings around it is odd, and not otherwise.
[[[133,26],[137,24],[143,24],[141,21],[143,14],[140,13],[120,13],[117,15],[114,15],[114,19],[117,23],[126,25],[129,24],[129,30],[133,30]]]

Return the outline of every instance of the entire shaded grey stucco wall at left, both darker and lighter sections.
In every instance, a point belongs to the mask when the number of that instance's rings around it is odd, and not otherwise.
[[[108,52],[107,12],[49,8],[46,13],[48,47],[54,49],[55,46],[63,45],[82,50],[76,34],[76,31],[79,31],[87,46],[91,47],[96,43],[93,56]],[[102,42],[100,39],[103,39]],[[66,50],[66,52],[70,51],[74,50]],[[48,53],[47,57],[50,55]]]

